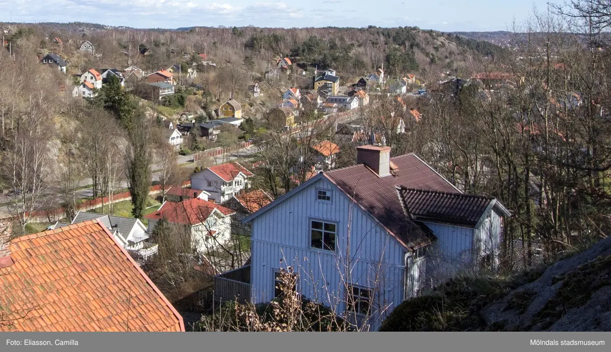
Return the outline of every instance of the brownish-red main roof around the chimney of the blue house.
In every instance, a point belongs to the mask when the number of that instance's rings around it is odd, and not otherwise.
[[[397,170],[380,178],[365,165],[326,171],[331,182],[376,218],[387,231],[409,248],[428,243],[429,239],[403,212],[397,186],[415,189],[460,192],[414,154],[393,157]]]

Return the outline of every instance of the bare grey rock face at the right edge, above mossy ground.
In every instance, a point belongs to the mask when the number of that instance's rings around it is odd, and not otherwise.
[[[490,330],[611,331],[611,238],[483,309]]]

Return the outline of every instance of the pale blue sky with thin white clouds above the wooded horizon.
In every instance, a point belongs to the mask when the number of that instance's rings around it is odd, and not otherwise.
[[[547,0],[0,0],[0,22],[505,31],[526,20],[534,7],[546,9]]]

